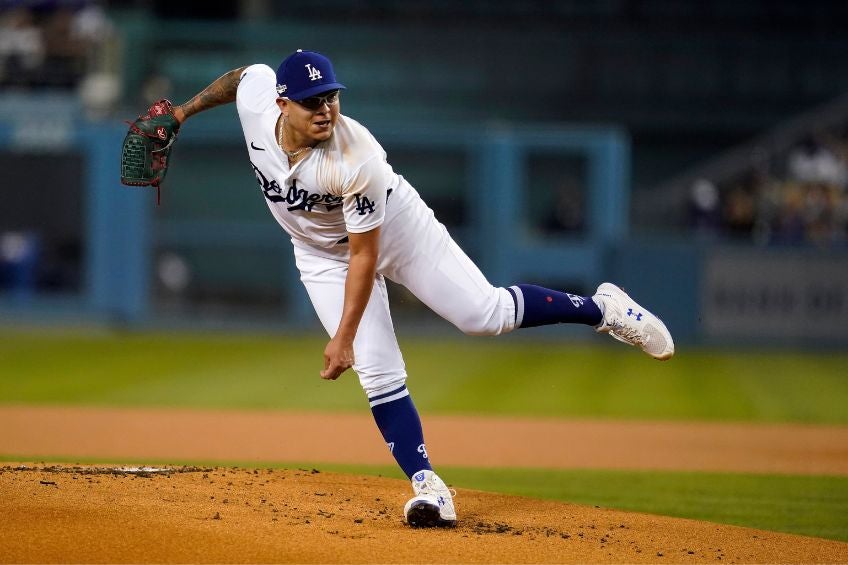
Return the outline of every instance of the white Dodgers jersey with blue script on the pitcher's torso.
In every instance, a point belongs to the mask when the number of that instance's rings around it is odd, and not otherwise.
[[[250,164],[277,222],[293,240],[318,247],[338,245],[348,232],[380,226],[387,198],[401,178],[377,140],[359,122],[340,115],[330,139],[290,167],[277,145],[280,109],[275,89],[270,67],[247,67],[236,106]]]

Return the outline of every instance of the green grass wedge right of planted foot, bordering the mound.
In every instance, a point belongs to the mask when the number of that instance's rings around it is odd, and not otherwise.
[[[848,541],[848,477],[451,469],[462,486]]]

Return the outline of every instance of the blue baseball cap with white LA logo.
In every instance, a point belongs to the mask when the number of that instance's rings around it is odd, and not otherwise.
[[[330,60],[315,51],[298,49],[277,68],[277,95],[290,100],[303,100],[344,87],[336,82]]]

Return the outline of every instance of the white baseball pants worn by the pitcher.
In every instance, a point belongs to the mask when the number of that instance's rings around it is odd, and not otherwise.
[[[293,243],[309,298],[327,333],[335,335],[344,306],[347,246],[324,249]],[[498,335],[515,327],[509,291],[486,280],[415,189],[402,181],[386,207],[377,277],[353,342],[353,369],[369,397],[406,381],[384,277],[408,288],[466,334]]]

